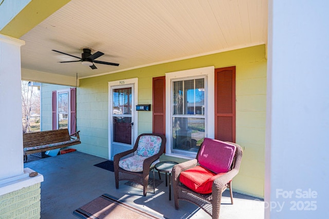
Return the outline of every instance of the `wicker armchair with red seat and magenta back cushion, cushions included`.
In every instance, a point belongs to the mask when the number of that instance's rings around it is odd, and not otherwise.
[[[179,200],[187,200],[218,218],[227,188],[233,204],[232,179],[239,172],[242,154],[239,144],[205,138],[195,159],[172,170],[175,208],[179,209]]]

